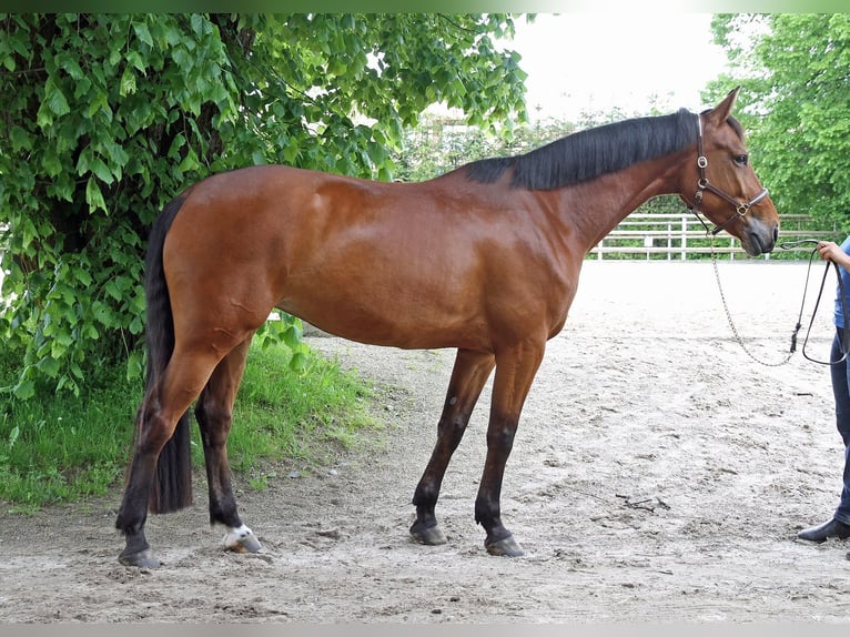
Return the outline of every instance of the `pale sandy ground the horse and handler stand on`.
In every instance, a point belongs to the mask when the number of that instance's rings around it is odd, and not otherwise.
[[[749,346],[781,360],[805,265],[723,263],[720,274]],[[833,285],[813,354],[827,354]],[[385,445],[280,467],[263,492],[237,478],[257,555],[221,549],[203,479],[193,507],[150,519],[164,562],[152,572],[117,560],[118,489],[2,513],[0,621],[850,620],[850,543],[796,539],[838,499],[828,370],[799,352],[780,367],[751,361],[709,264],[586,264],[507,467],[503,515],[522,558],[488,556],[473,519],[488,390],[444,483],[448,544],[408,539],[453,353],[312,344],[374,381]]]

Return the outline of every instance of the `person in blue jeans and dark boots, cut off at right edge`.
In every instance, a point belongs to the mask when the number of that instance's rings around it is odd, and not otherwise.
[[[850,236],[841,245],[831,241],[821,241],[818,244],[820,257],[824,261],[832,261],[838,265],[838,272],[844,287],[844,297],[847,306],[850,307]],[[841,303],[841,287],[836,293],[836,335],[832,338],[832,351],[830,361],[838,361],[843,356],[841,343],[843,343],[844,330],[850,330],[850,325],[844,325],[844,313]],[[832,519],[821,525],[805,528],[797,534],[800,539],[810,542],[824,542],[830,537],[844,539],[850,537],[850,367],[847,361],[830,365],[832,376],[832,393],[836,396],[836,424],[841,439],[844,442],[844,474],[843,488],[838,508],[832,515]],[[850,553],[847,554],[850,559]]]

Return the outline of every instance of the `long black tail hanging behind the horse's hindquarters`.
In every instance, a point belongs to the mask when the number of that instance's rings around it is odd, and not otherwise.
[[[145,402],[162,377],[174,352],[174,317],[171,296],[162,265],[162,247],[171,223],[183,205],[179,196],[169,203],[151,228],[145,256],[144,293],[148,303],[145,340],[148,373]],[[144,405],[144,403],[143,403]],[[143,426],[140,410],[138,426]],[[148,508],[151,513],[170,513],[192,504],[192,464],[190,454],[189,412],[178,422],[174,435],[165,443],[156,463]]]

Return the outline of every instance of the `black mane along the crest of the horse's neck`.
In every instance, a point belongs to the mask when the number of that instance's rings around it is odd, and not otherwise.
[[[697,141],[697,117],[685,109],[671,115],[637,118],[573,133],[510,158],[479,160],[466,176],[494,183],[513,169],[512,185],[552,190],[617,172]]]

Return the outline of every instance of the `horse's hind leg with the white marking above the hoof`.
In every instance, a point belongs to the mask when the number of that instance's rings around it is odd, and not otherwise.
[[[234,553],[256,553],[262,548],[239,516],[227,464],[233,403],[242,382],[250,343],[249,336],[219,363],[195,405],[210,491],[210,524],[226,527],[224,546]]]

